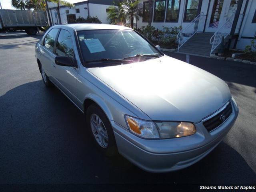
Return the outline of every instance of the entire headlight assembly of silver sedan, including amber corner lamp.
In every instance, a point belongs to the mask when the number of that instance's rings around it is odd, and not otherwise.
[[[178,138],[196,133],[196,127],[190,122],[152,122],[128,115],[125,120],[129,130],[143,138]]]

